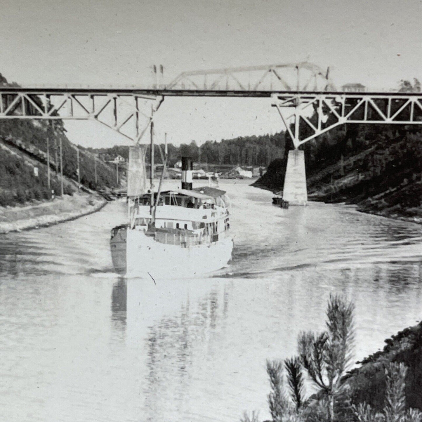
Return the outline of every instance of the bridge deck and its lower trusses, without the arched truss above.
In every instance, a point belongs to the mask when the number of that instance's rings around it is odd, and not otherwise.
[[[95,120],[138,143],[166,96],[267,97],[295,148],[345,123],[422,124],[422,93],[10,86],[0,86],[0,119]]]

